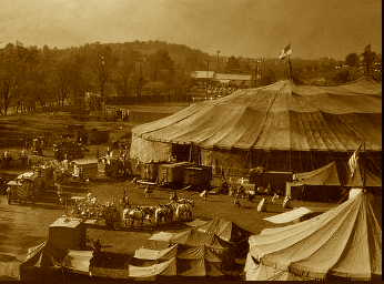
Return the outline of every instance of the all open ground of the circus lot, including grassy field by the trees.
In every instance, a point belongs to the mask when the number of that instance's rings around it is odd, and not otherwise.
[[[79,121],[72,119],[67,113],[37,113],[29,115],[18,115],[2,118],[0,120],[0,138],[9,139],[13,136],[22,136],[26,134],[37,136],[39,133],[60,133],[67,124],[80,124]],[[117,139],[128,133],[134,124],[129,122],[98,122],[84,121],[84,128],[92,126],[111,128],[112,139]],[[95,156],[95,150],[99,149],[100,154],[104,154],[107,145],[92,145],[88,156]],[[20,148],[10,149],[14,154]],[[2,153],[4,149],[0,149]],[[43,150],[44,155],[52,156],[50,149]],[[7,172],[2,171],[3,173]],[[12,169],[13,174],[22,173],[22,170]],[[64,191],[71,196],[84,196],[91,192],[93,196],[101,202],[113,201],[118,204],[118,209],[122,210],[119,204],[123,194],[123,189],[129,192],[130,203],[135,205],[156,205],[169,202],[171,190],[155,189],[150,197],[144,197],[143,189],[137,189],[132,180],[111,180],[107,179],[102,173],[91,183],[73,182],[64,186]],[[282,212],[281,205],[269,204],[266,212],[257,212],[256,206],[262,196],[257,196],[254,203],[242,200],[240,209],[233,206],[233,199],[226,195],[209,195],[204,201],[199,196],[198,192],[181,191],[179,197],[193,200],[195,206],[192,210],[193,219],[211,220],[214,216],[221,216],[226,220],[234,221],[239,226],[247,230],[253,234],[260,233],[265,227],[273,226],[272,223],[264,221],[269,217]],[[65,207],[59,205],[58,199],[38,201],[36,207],[30,204],[19,205],[12,203],[7,204],[7,199],[0,193],[0,280],[1,275],[12,274],[12,262],[18,262],[27,254],[28,248],[38,245],[47,240],[48,226],[52,224],[59,216],[65,214]],[[333,207],[332,203],[313,203],[313,202],[294,202],[293,206],[311,206],[311,207]],[[172,225],[156,226],[153,224],[144,224],[135,227],[125,227],[121,231],[111,231],[105,226],[97,225],[89,227],[87,233],[92,239],[100,239],[105,246],[102,251],[111,253],[132,254],[137,248],[145,246],[148,237],[159,231],[180,230],[188,227],[184,222],[174,222]],[[14,272],[13,272],[14,275]]]

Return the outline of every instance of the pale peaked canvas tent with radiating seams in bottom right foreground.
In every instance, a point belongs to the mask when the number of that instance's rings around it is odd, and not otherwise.
[[[381,202],[360,193],[314,219],[251,236],[246,280],[381,278]]]

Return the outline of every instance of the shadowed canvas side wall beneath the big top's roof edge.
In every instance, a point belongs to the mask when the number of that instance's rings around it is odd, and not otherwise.
[[[168,161],[175,154],[175,145],[151,141],[132,135],[131,158],[141,163],[153,161]],[[190,145],[181,145],[189,148]],[[185,151],[184,151],[185,152]],[[223,150],[204,149],[192,144],[190,159],[192,162],[209,165],[213,169],[213,174],[224,173],[225,176],[246,176],[251,168],[263,166],[265,171],[281,172],[309,172],[335,161],[341,184],[348,181],[347,161],[350,152],[331,151],[279,151],[279,150]],[[381,169],[382,152],[370,152],[370,161],[365,159],[365,153],[361,153],[364,163],[374,164]],[[186,158],[186,156],[185,156]],[[185,159],[188,161],[189,159]],[[179,159],[178,159],[179,161]],[[376,170],[377,171],[377,170]]]

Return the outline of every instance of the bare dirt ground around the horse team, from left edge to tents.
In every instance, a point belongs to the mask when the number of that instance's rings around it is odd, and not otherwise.
[[[144,196],[143,187],[135,187],[131,180],[110,180],[102,174],[91,183],[73,182],[64,186],[64,192],[71,196],[85,196],[91,192],[93,196],[101,202],[111,202],[118,205],[121,211],[120,200],[123,189],[129,192],[130,204],[137,205],[156,205],[169,202],[171,190],[154,189],[149,197]],[[263,196],[257,196],[254,203],[243,199],[242,206],[234,207],[233,199],[228,195],[209,195],[206,201],[200,197],[198,192],[180,191],[179,197],[193,200],[193,219],[211,220],[214,216],[221,216],[234,221],[239,226],[253,234],[260,233],[265,227],[274,225],[264,217],[269,217],[286,210],[281,205],[269,204],[266,212],[257,212],[256,206]],[[271,199],[271,197],[269,197]],[[334,204],[296,202],[294,206],[333,206]],[[69,213],[69,205],[67,211]],[[0,275],[17,275],[16,266],[12,262],[21,261],[28,248],[38,245],[48,239],[49,225],[58,217],[65,214],[65,206],[59,205],[58,200],[52,202],[38,202],[33,209],[30,204],[19,205],[7,204],[4,195],[0,195]],[[109,230],[103,222],[100,225],[93,225],[87,229],[87,235],[91,239],[100,239],[103,245],[102,251],[111,253],[133,254],[139,247],[146,245],[146,240],[151,234],[160,231],[175,231],[189,227],[184,222],[175,221],[171,225],[154,225],[144,223],[133,227],[123,227],[120,231]],[[2,268],[1,268],[2,267]],[[6,272],[4,272],[6,271]],[[0,277],[1,278],[1,277]]]

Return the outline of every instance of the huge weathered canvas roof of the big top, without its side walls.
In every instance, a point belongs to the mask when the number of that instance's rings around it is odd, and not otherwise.
[[[381,129],[382,85],[362,78],[337,87],[283,80],[238,90],[138,125],[132,134],[204,149],[348,152],[362,136],[367,151],[381,151]]]

